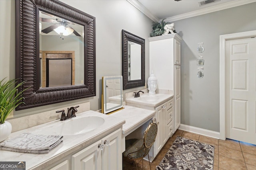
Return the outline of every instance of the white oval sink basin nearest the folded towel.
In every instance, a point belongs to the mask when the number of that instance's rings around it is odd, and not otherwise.
[[[102,117],[88,116],[58,121],[53,125],[38,129],[33,133],[42,135],[78,135],[92,131],[104,123]]]

